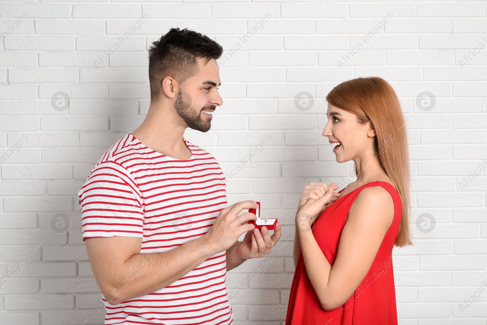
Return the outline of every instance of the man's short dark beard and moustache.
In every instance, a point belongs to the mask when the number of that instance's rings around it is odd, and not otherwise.
[[[178,115],[183,118],[188,127],[193,130],[207,132],[211,128],[211,119],[202,118],[201,111],[213,111],[215,110],[216,106],[205,106],[200,111],[194,112],[192,108],[193,101],[191,99],[191,96],[189,96],[186,92],[184,93],[186,96],[183,96],[183,92],[179,90],[178,97],[174,102],[174,109],[176,110]]]

